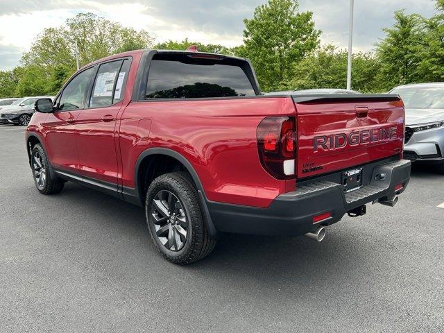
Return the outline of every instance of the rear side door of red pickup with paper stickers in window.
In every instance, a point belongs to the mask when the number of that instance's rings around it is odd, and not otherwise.
[[[94,178],[117,191],[119,167],[116,141],[117,115],[123,105],[123,90],[130,59],[111,60],[99,65],[87,98],[87,108],[76,121],[79,169],[85,182]]]

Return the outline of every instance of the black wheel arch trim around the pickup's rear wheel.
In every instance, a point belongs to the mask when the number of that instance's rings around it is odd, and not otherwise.
[[[180,163],[183,164],[185,169],[189,172],[191,175],[191,178],[194,180],[194,184],[196,184],[197,190],[198,190],[198,196],[200,200],[200,205],[202,207],[203,214],[205,215],[205,221],[207,221],[207,228],[210,232],[211,236],[213,238],[218,239],[221,234],[216,230],[216,227],[214,226],[212,217],[210,215],[210,210],[208,210],[207,207],[207,198],[205,196],[205,191],[203,190],[202,182],[200,182],[200,178],[198,177],[196,170],[194,170],[194,167],[191,165],[191,163],[183,156],[180,155],[177,151],[173,151],[169,148],[148,148],[146,151],[143,151],[139,157],[137,157],[137,162],[135,165],[135,173],[134,173],[134,179],[135,179],[135,189],[130,189],[128,187],[123,187],[123,198],[125,200],[128,200],[131,203],[135,203],[135,201],[138,202],[138,205],[144,206],[144,203],[142,203],[143,194],[140,191],[139,187],[139,167],[140,164],[142,164],[142,161],[145,157],[150,155],[167,155],[169,157],[173,157],[176,160],[178,160]]]

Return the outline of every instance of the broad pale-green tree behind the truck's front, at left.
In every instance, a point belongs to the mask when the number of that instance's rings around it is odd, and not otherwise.
[[[91,12],[67,19],[64,26],[46,28],[30,51],[22,56],[17,71],[17,96],[56,94],[76,71],[75,45],[80,66],[134,49],[146,49],[153,38],[146,31],[135,31]]]

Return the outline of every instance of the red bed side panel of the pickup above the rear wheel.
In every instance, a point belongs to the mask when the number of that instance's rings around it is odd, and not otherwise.
[[[143,151],[163,147],[191,163],[209,200],[267,207],[294,190],[295,181],[277,180],[262,168],[256,129],[264,117],[294,112],[289,97],[131,102],[120,127],[123,186],[135,187]]]

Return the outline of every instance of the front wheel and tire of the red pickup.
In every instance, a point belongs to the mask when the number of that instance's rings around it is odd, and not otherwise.
[[[31,169],[35,187],[41,194],[56,194],[62,191],[65,182],[51,176],[51,165],[40,144],[36,144],[31,152]]]

